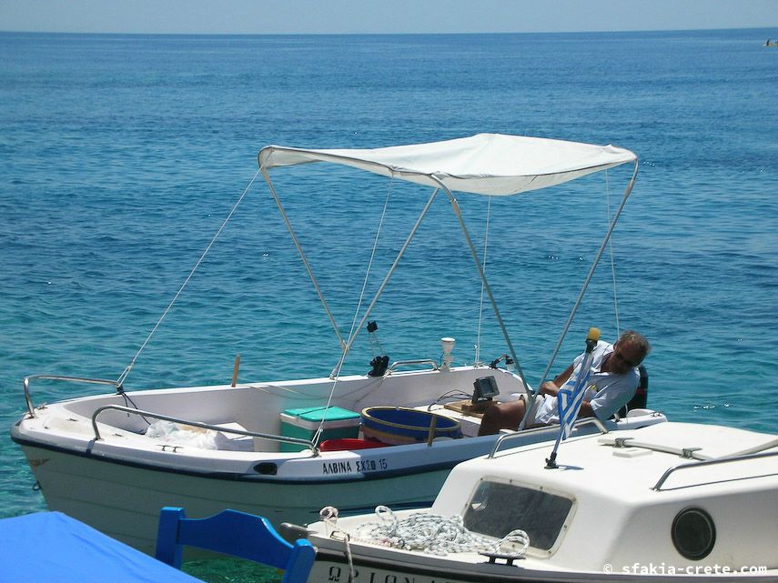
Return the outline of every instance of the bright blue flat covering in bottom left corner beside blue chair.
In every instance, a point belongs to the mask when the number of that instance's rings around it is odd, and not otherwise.
[[[0,520],[0,583],[202,583],[61,512]]]

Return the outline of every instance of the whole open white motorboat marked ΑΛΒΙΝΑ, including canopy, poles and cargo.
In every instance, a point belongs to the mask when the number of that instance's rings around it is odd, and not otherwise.
[[[578,307],[638,167],[634,154],[614,146],[500,135],[369,150],[267,146],[258,161],[342,348],[329,376],[238,383],[236,363],[233,382],[223,386],[130,391],[126,377],[136,354],[116,380],[25,378],[27,412],[11,433],[23,448],[49,508],[148,552],[154,547],[163,506],[187,508],[190,517],[237,508],[277,524],[305,524],[316,520],[325,505],[336,505],[344,514],[364,512],[377,504],[429,505],[452,467],[494,446],[497,436],[478,437],[484,403],[490,398],[533,398],[453,193],[517,195],[633,163],[621,206],[612,216],[575,303]],[[405,244],[360,314],[359,325],[346,337],[269,176],[279,166],[314,162],[353,166],[432,188]],[[490,365],[476,358],[472,365],[455,367],[453,339],[443,338],[440,359],[389,365],[387,357],[379,356],[367,375],[341,374],[359,331],[371,330],[371,311],[440,192],[450,199],[465,234],[506,354]],[[437,340],[433,350],[440,354]],[[113,392],[36,407],[34,381],[98,383]],[[630,429],[664,420],[661,414],[637,407],[621,418],[584,421],[575,432],[599,431],[597,425],[611,431]],[[521,432],[520,439],[531,443],[555,437],[551,427]],[[376,445],[381,447],[371,447]]]

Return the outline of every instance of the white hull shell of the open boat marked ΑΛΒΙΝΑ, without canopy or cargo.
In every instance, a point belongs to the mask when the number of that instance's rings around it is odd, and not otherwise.
[[[518,377],[488,371],[500,378],[506,393],[520,389]],[[217,448],[171,441],[149,431],[154,416],[174,416],[185,419],[184,427],[191,419],[208,427],[241,427],[278,437],[282,412],[320,402],[322,391],[331,387],[329,379],[80,397],[36,408],[35,415],[12,427],[11,437],[23,448],[50,509],[151,553],[159,511],[165,506],[187,508],[193,518],[235,508],[267,517],[277,527],[281,522],[316,522],[327,506],[338,508],[342,516],[370,512],[379,505],[429,506],[453,467],[490,453],[499,438],[478,437],[478,417],[434,405],[450,387],[464,390],[485,372],[462,367],[338,380],[339,392],[333,397],[338,407],[356,411],[399,400],[424,411],[445,411],[459,416],[468,437],[458,439],[358,450],[283,451],[277,440],[249,436],[239,448],[222,447],[217,437],[226,439],[229,434],[222,435],[221,429],[208,430]],[[125,407],[125,398],[134,407]],[[662,416],[645,412],[608,425],[621,429],[663,421]],[[600,429],[588,424],[574,431]],[[545,427],[512,437],[521,443],[548,442],[557,432],[556,427]]]

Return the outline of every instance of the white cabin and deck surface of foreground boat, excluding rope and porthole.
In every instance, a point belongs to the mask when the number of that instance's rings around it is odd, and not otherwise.
[[[546,467],[550,453],[550,444],[535,444],[462,463],[451,472],[432,507],[423,512],[461,515],[467,527],[468,516],[471,525],[478,524],[475,515],[481,512],[480,505],[489,505],[489,498],[477,494],[484,484],[517,488],[517,496],[518,489],[529,488],[567,498],[571,509],[560,523],[559,534],[554,535],[556,541],[548,548],[536,548],[530,542],[526,557],[517,563],[520,568],[602,575],[604,565],[621,569],[652,562],[676,568],[753,566],[762,569],[760,575],[778,578],[778,554],[774,552],[778,542],[776,436],[733,427],[662,423],[604,436],[571,437],[559,449],[557,468]],[[504,507],[491,516],[500,522],[515,516],[516,524],[505,528],[522,528],[523,510],[511,508],[510,498],[497,499]],[[520,505],[520,499],[515,504]],[[714,525],[712,549],[700,559],[684,558],[673,546],[672,525],[687,508],[699,508]],[[396,516],[406,518],[413,512]],[[339,518],[337,527],[365,532],[364,525],[378,521],[370,515]],[[314,544],[338,549],[337,541],[322,537],[328,525],[317,523],[310,528],[316,533],[311,538]],[[358,562],[361,556],[386,561],[391,567],[388,572],[398,577],[407,572],[403,570],[406,564],[445,566],[452,573],[457,564],[462,572],[500,572],[500,566],[484,565],[486,558],[474,553],[440,558],[363,539],[352,541],[351,547]],[[502,568],[503,574],[510,572],[504,570],[505,565]]]

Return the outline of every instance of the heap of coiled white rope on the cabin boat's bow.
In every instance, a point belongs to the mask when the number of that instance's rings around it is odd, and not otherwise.
[[[378,522],[359,525],[353,534],[338,528],[338,509],[322,508],[320,516],[333,529],[331,537],[343,538],[351,564],[349,541],[360,540],[386,547],[404,550],[418,550],[432,555],[449,553],[482,552],[500,557],[520,558],[530,548],[530,537],[520,529],[511,530],[500,540],[471,532],[464,527],[462,517],[449,518],[427,512],[417,512],[408,518],[399,519],[386,506],[376,507]],[[337,535],[337,536],[336,536]]]

